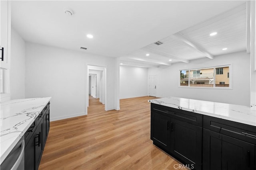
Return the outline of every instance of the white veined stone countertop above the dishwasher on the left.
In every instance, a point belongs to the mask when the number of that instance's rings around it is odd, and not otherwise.
[[[1,103],[0,160],[6,158],[51,97],[9,100]]]

